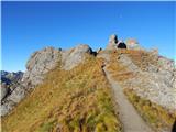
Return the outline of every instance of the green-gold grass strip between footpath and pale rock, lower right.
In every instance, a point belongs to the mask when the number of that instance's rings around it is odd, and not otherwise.
[[[162,106],[141,98],[132,89],[124,89],[124,94],[128,96],[129,100],[133,103],[143,119],[151,124],[154,130],[161,132],[162,129],[169,130],[172,128],[176,119],[176,112],[170,113]]]

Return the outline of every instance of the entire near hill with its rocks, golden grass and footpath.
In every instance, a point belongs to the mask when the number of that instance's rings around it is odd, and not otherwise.
[[[1,116],[2,132],[170,132],[176,67],[114,34],[97,52],[45,47],[3,97]]]

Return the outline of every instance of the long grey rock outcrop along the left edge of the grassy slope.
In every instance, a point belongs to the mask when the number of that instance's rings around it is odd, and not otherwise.
[[[69,70],[85,59],[86,53],[92,53],[92,50],[86,44],[80,44],[68,51],[46,47],[34,52],[26,63],[26,72],[21,81],[3,100],[1,105],[1,116],[4,116],[12,110],[13,107],[25,97],[31,88],[42,84],[45,75],[51,69],[56,66],[62,66],[63,69]],[[8,91],[3,89],[2,92],[6,95]]]

